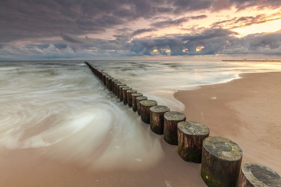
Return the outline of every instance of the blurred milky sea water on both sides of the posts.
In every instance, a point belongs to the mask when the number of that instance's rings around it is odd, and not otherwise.
[[[171,111],[185,108],[173,97],[176,90],[226,82],[239,73],[281,70],[280,62],[89,62]],[[151,165],[164,155],[163,137],[120,103],[82,60],[0,61],[0,85],[1,150],[48,147],[51,157],[95,167]]]

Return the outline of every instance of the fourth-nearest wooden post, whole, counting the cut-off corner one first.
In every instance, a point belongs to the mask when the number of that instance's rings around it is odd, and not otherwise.
[[[178,145],[178,122],[185,121],[184,113],[170,111],[164,114],[164,139],[171,145]]]

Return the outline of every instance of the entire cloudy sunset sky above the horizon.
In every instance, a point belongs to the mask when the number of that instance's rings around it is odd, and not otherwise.
[[[0,60],[281,59],[281,0],[1,0]]]

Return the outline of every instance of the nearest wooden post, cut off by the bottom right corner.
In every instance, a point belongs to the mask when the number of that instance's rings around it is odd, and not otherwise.
[[[257,164],[246,163],[240,171],[238,187],[279,187],[281,176],[273,169]]]

